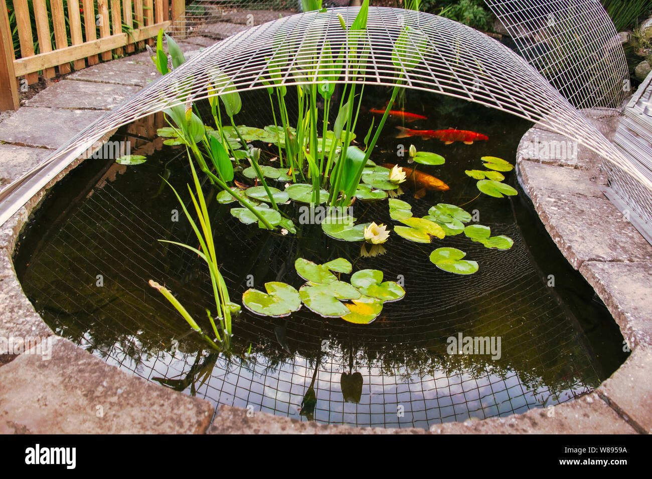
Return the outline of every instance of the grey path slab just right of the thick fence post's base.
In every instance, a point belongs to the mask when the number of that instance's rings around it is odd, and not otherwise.
[[[65,109],[113,109],[140,87],[61,80],[36,94],[25,104]]]

